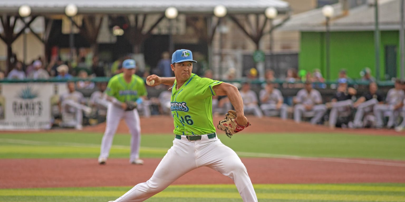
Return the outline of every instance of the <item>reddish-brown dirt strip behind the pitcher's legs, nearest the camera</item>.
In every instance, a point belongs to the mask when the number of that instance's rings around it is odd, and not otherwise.
[[[405,183],[405,162],[333,162],[328,159],[242,158],[257,183]],[[128,159],[3,159],[0,188],[134,186],[151,177],[160,159],[131,165]],[[376,165],[378,164],[378,165]],[[381,165],[380,165],[381,164]],[[207,167],[198,168],[173,184],[231,184]]]

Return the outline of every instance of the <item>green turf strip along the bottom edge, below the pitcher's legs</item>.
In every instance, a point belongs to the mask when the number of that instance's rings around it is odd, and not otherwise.
[[[405,184],[254,185],[259,202],[405,202]],[[0,189],[0,202],[107,202],[132,187]],[[234,185],[171,185],[147,202],[242,202]]]

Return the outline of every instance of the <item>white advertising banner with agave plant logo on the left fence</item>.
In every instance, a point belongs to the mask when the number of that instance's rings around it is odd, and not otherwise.
[[[0,130],[51,128],[51,97],[54,85],[53,83],[0,84]]]

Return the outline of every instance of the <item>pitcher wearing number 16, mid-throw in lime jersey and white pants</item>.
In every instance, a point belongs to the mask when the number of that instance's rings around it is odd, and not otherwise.
[[[176,50],[171,65],[175,77],[147,77],[147,83],[155,81],[152,86],[172,86],[171,112],[175,139],[152,177],[133,187],[115,202],[144,201],[179,177],[202,166],[230,177],[244,202],[257,202],[245,166],[237,154],[218,139],[212,120],[212,96],[227,95],[237,113],[236,122],[247,125],[241,95],[232,84],[192,74],[194,62],[190,50]]]

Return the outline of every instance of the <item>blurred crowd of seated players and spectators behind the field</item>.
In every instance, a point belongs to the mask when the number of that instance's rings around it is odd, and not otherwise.
[[[41,58],[32,61],[29,65],[16,60],[7,75],[0,72],[0,78],[1,76],[19,80],[79,78],[77,82],[67,82],[68,93],[64,95],[55,93],[58,97],[54,98],[52,114],[54,124],[81,129],[83,124],[105,121],[107,112],[107,101],[103,96],[107,82],[95,83],[88,78],[119,74],[122,72],[122,61],[128,58],[129,56],[117,59],[108,69],[97,56],[92,58],[91,65],[88,65],[82,57],[75,67],[59,57],[53,57],[47,65],[44,65]],[[173,76],[170,64],[170,55],[164,52],[152,72],[158,76]],[[136,74],[146,78],[149,72],[136,72]],[[254,82],[258,79],[258,71],[255,68],[249,69],[244,75],[240,82],[241,80],[236,80],[236,70],[230,68],[220,80],[230,82],[239,88],[245,114],[257,117],[279,116],[283,120],[290,118],[297,123],[308,121],[311,124],[325,124],[330,128],[386,127],[395,128],[398,131],[405,128],[405,83],[396,80],[394,88],[388,93],[380,93],[375,78],[371,76],[371,70],[367,67],[360,72],[361,81],[369,82],[366,93],[358,95],[357,90],[349,86],[354,80],[347,76],[347,70],[341,69],[335,84],[336,92],[328,102],[322,99],[317,90],[327,86],[319,69],[314,69],[312,72],[288,69],[286,75],[281,78],[276,78],[275,72],[267,69],[264,75],[266,82],[259,83]],[[210,69],[206,70],[202,76],[217,79],[214,78]],[[255,90],[252,90],[252,86]],[[148,91],[152,90],[158,94],[148,96],[148,100],[138,107],[141,116],[171,114],[171,92],[164,88],[165,86],[162,85],[153,88],[148,86]],[[281,88],[301,90],[298,90],[295,96],[286,97],[279,90]],[[81,93],[83,89],[91,90],[92,94],[84,96]],[[213,96],[214,116],[222,116],[230,109],[232,105],[226,96]]]

